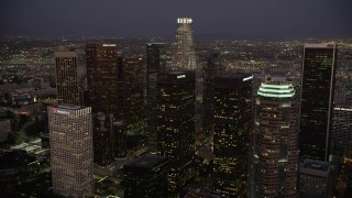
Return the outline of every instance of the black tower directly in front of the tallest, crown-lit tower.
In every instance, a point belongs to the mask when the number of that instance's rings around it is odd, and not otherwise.
[[[168,157],[168,190],[177,194],[195,176],[195,73],[157,78],[157,150]]]

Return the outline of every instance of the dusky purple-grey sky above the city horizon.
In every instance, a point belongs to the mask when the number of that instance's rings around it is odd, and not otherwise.
[[[351,37],[352,0],[0,0],[0,35]]]

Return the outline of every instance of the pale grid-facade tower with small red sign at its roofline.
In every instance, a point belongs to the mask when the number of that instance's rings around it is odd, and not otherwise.
[[[70,105],[47,108],[54,195],[94,196],[90,111],[90,107]]]

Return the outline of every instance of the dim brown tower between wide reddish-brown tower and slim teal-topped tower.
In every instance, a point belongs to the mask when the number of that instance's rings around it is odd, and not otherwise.
[[[128,134],[144,133],[143,65],[140,57],[119,57],[119,120]]]

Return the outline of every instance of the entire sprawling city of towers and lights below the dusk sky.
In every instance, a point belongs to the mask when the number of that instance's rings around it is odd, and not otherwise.
[[[1,145],[4,152],[34,155],[38,162],[28,164],[38,167],[24,166],[11,174],[29,174],[36,180],[37,168],[50,179],[42,187],[46,186],[45,194],[77,197],[85,193],[133,197],[139,184],[138,195],[146,196],[157,188],[160,196],[167,197],[329,197],[352,191],[352,138],[349,140],[349,130],[342,131],[349,128],[348,114],[342,119],[332,112],[349,110],[352,105],[348,102],[352,98],[350,40],[279,45],[270,40],[207,40],[194,48],[193,19],[178,18],[177,23],[176,40],[160,38],[163,44],[145,40],[123,43],[124,38],[72,43],[62,38],[50,41],[48,46],[26,46],[25,53],[44,53],[34,58],[48,57],[46,64],[12,62],[20,54],[12,48],[23,38],[1,37],[1,106],[11,127]],[[180,23],[186,23],[186,32]],[[74,61],[59,54],[57,46],[75,52],[70,53]],[[343,58],[336,53],[339,46]],[[175,68],[175,59],[191,64]],[[56,63],[56,73],[42,74],[52,69],[51,62]],[[72,69],[74,78],[67,73],[59,75],[65,69]],[[79,88],[61,95],[58,90],[67,84]],[[320,91],[314,94],[317,89]],[[62,100],[69,103],[70,94],[87,108],[61,105]],[[338,100],[343,101],[343,109],[334,108]],[[329,112],[328,119],[319,119],[324,112]],[[331,127],[333,120],[339,128]],[[29,129],[28,123],[36,128]],[[310,128],[314,133],[306,132]],[[40,135],[41,148],[36,140],[22,143],[23,129],[25,135]],[[343,144],[341,134],[348,139]],[[16,147],[29,143],[35,152],[25,148],[24,154],[16,153]],[[66,168],[61,175],[57,169],[62,167]],[[82,183],[89,184],[85,190]],[[19,186],[19,182],[8,184],[6,193],[15,195]]]

